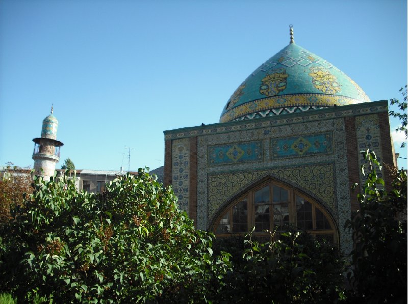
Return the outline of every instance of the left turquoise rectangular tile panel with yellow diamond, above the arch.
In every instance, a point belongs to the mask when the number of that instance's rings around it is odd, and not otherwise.
[[[262,141],[208,147],[208,164],[210,166],[261,161],[262,159]]]

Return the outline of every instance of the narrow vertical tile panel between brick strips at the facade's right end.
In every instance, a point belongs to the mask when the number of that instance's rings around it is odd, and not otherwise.
[[[359,168],[362,164],[366,164],[367,161],[364,160],[364,157],[360,151],[374,151],[377,156],[378,161],[382,161],[381,153],[381,137],[380,137],[380,126],[378,115],[371,114],[365,116],[357,116],[355,118],[355,131],[357,137],[357,148],[359,149]],[[382,171],[376,168],[377,174],[379,177],[382,177]],[[360,183],[364,184],[367,180],[366,176],[363,176],[360,172]]]

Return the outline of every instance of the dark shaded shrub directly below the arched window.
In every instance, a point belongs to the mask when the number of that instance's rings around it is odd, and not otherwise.
[[[225,276],[219,300],[328,303],[344,298],[345,262],[335,245],[296,231],[266,243],[253,238],[252,233],[247,235],[246,248],[239,258],[232,255],[233,271]],[[236,254],[240,252],[238,244],[233,248]]]

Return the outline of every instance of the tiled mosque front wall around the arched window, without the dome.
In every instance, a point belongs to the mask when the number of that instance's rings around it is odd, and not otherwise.
[[[211,230],[228,204],[270,177],[324,208],[341,250],[349,252],[351,236],[344,223],[356,195],[350,177],[355,179],[363,145],[373,147],[380,159],[393,159],[392,149],[382,155],[381,148],[381,142],[391,142],[389,133],[379,132],[378,117],[387,113],[387,102],[377,101],[165,131],[165,182],[171,180],[180,208],[196,227]]]

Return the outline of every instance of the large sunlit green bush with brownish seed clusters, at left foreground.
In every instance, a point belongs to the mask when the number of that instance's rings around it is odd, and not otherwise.
[[[1,233],[0,286],[19,300],[202,301],[228,268],[212,258],[213,236],[144,172],[97,196],[37,177],[14,219]]]

